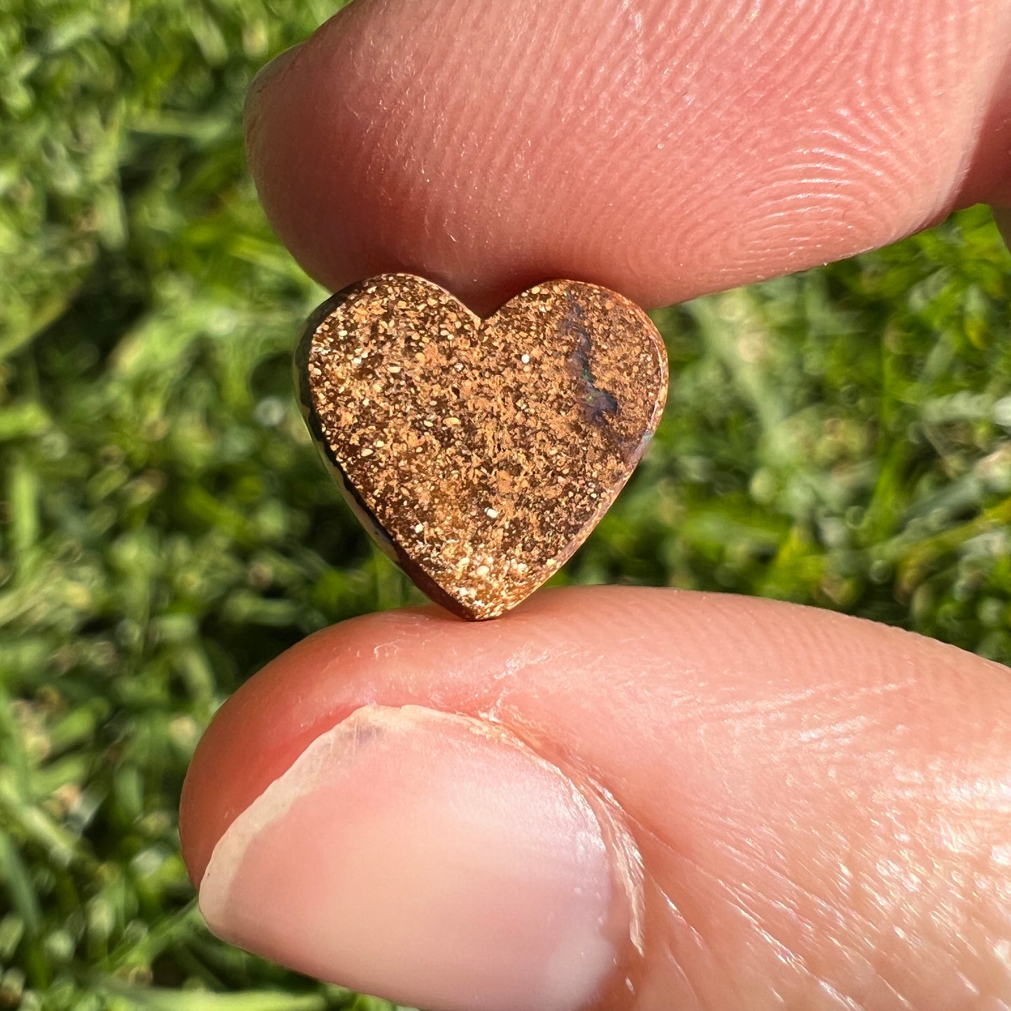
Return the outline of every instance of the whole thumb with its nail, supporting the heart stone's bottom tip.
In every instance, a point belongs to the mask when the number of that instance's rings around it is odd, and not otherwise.
[[[1007,674],[669,590],[374,615],[225,703],[184,853],[215,932],[437,1011],[1003,1007]]]

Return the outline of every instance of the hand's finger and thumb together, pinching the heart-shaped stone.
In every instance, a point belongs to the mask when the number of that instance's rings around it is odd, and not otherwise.
[[[1011,204],[1009,42],[1007,0],[356,0],[255,85],[250,162],[332,288],[654,306]],[[998,1011],[1009,767],[997,664],[558,590],[279,657],[201,743],[183,846],[225,936],[437,1011]]]

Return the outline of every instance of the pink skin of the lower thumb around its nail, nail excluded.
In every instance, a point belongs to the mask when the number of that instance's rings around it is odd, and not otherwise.
[[[641,942],[601,1011],[1011,1002],[997,664],[811,609],[627,587],[542,593],[490,630],[355,620],[208,731],[183,809],[197,880],[228,822],[363,701],[508,728],[609,798],[610,844],[627,836],[622,865],[642,868]]]

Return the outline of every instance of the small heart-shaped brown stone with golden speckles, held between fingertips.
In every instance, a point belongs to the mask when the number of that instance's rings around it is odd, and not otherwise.
[[[374,277],[319,307],[295,372],[352,508],[429,596],[474,620],[515,607],[585,540],[667,389],[649,316],[577,281],[481,319],[424,278]]]

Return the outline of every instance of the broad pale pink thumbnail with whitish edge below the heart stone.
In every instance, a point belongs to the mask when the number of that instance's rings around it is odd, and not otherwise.
[[[617,964],[620,888],[592,808],[512,735],[367,706],[235,820],[200,909],[242,947],[400,1003],[575,1011]]]

